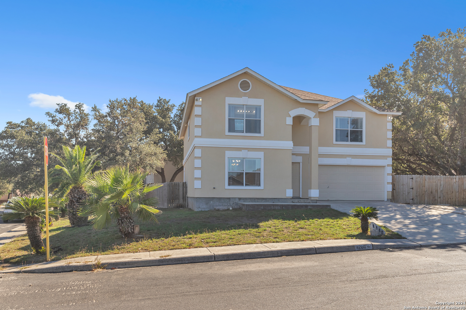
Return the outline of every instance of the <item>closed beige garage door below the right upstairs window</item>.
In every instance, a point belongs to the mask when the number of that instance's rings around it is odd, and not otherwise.
[[[319,199],[385,200],[385,167],[319,165]]]

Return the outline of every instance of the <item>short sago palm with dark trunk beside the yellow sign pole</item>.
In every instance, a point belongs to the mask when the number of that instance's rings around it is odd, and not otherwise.
[[[13,210],[6,213],[3,219],[23,218],[32,248],[36,254],[43,253],[41,221],[45,218],[45,198],[13,197],[3,205]],[[50,210],[49,215],[55,216],[55,213]]]

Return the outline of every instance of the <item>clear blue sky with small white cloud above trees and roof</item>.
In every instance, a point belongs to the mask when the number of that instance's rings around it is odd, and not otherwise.
[[[347,98],[423,34],[466,26],[465,1],[1,1],[0,129],[54,102],[186,93],[246,66]],[[56,97],[61,96],[61,97]]]

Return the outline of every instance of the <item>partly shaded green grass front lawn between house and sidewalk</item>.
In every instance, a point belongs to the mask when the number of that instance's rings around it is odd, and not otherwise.
[[[384,237],[361,233],[360,221],[334,209],[268,211],[192,211],[167,209],[157,223],[141,225],[141,239],[123,239],[114,224],[101,231],[91,226],[72,228],[60,220],[50,227],[50,246],[63,250],[51,260],[92,255],[175,250],[238,244],[328,240],[328,239],[402,239],[384,227]],[[45,234],[44,234],[45,244]],[[0,247],[3,264],[32,264],[45,261],[35,255],[26,235]]]

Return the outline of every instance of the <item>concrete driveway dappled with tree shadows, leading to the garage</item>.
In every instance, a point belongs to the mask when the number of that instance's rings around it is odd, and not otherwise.
[[[440,205],[397,204],[387,201],[329,201],[332,209],[351,214],[357,206],[379,209],[377,224],[418,244],[466,243],[466,209]]]

